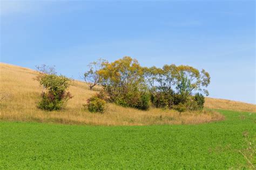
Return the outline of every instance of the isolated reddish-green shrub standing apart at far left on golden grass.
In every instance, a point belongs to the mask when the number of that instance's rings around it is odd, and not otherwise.
[[[65,76],[55,74],[40,74],[37,79],[44,91],[42,100],[38,103],[38,108],[43,110],[60,110],[64,104],[72,98],[66,89],[70,86],[70,79]]]

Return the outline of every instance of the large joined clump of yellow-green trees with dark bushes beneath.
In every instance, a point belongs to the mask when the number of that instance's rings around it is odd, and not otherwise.
[[[95,64],[99,65],[98,62]],[[191,66],[164,65],[162,68],[142,67],[136,59],[100,63],[97,75],[106,101],[123,107],[147,110],[152,107],[185,110],[203,109],[210,75]]]

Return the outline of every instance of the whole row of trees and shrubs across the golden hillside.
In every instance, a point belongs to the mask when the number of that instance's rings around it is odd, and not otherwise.
[[[47,91],[42,95],[39,105],[45,101],[46,105],[61,103],[60,107],[52,109],[58,110],[72,96],[63,90],[68,88],[63,82],[63,76],[56,78],[53,75],[56,74],[43,73],[41,70],[38,76],[37,80]],[[50,83],[50,86],[54,84],[55,87],[49,87],[49,81],[45,80],[45,77],[50,76],[56,79],[52,79]],[[204,95],[208,95],[206,87],[210,84],[210,75],[204,69],[199,72],[196,68],[183,65],[142,67],[136,59],[129,56],[113,62],[102,59],[92,62],[83,78],[90,84],[91,90],[96,85],[103,87],[102,91],[89,98],[84,105],[91,112],[104,112],[106,102],[140,110],[150,107],[175,109],[180,113],[185,110],[200,110],[204,107]],[[65,82],[69,81],[66,79]],[[56,86],[60,86],[62,90]],[[55,90],[59,92],[53,92]],[[55,100],[58,102],[53,102]]]

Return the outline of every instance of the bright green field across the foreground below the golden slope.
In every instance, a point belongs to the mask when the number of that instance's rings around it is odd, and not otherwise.
[[[225,121],[200,125],[0,122],[0,168],[255,167],[256,114],[220,112]]]

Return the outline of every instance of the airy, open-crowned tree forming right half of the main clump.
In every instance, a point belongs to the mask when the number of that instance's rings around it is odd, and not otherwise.
[[[144,77],[156,107],[171,109],[173,105],[185,104],[197,92],[208,95],[204,88],[210,83],[210,75],[204,69],[199,72],[191,66],[164,65],[144,68]]]

